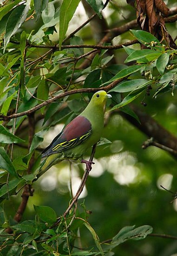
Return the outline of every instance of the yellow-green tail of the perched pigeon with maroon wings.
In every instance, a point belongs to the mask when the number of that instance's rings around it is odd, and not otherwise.
[[[61,153],[49,155],[43,162],[41,162],[39,166],[39,172],[37,174],[37,178],[43,175],[48,169],[50,169],[53,165],[60,162],[59,157]]]

